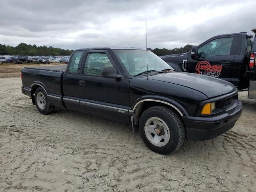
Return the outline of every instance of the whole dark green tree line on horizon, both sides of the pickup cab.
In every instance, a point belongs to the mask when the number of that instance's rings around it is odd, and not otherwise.
[[[185,53],[190,51],[191,48],[192,48],[192,45],[187,44],[184,47],[174,48],[174,49],[148,48],[148,50],[152,51],[154,54],[158,56],[163,56],[163,55],[170,55],[170,54],[177,54],[177,53]],[[47,47],[47,46],[28,45],[26,43],[20,43],[16,47],[0,44],[0,55],[31,55],[31,56],[70,55],[72,52],[73,50],[69,50],[69,49],[54,48],[52,46]]]

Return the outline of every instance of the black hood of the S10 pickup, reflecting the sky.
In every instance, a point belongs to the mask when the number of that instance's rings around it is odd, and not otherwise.
[[[171,72],[148,76],[148,78],[192,88],[206,95],[208,98],[224,95],[237,90],[233,84],[227,81],[200,74]]]

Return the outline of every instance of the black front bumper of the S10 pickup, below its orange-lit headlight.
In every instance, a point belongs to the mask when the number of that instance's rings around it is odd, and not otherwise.
[[[234,109],[210,117],[183,117],[187,138],[191,140],[209,140],[234,127],[241,116],[243,107],[240,101]]]

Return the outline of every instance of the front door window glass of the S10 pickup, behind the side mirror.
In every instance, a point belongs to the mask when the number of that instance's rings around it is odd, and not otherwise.
[[[106,53],[88,53],[83,73],[101,76],[102,69],[109,66],[113,67]]]

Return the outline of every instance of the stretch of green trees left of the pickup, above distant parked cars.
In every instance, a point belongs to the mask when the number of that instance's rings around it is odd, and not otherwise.
[[[0,44],[0,55],[70,55],[72,52],[73,50],[69,49],[54,48],[52,46],[28,45],[26,43],[20,43],[16,47]]]

